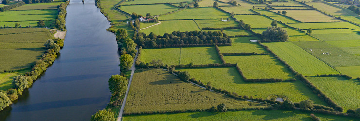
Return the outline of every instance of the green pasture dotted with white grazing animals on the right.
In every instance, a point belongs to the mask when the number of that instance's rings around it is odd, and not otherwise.
[[[335,67],[360,65],[359,56],[349,54],[326,42],[294,42],[294,44]],[[310,49],[312,49],[312,51],[310,51]],[[323,54],[327,52],[329,54]]]

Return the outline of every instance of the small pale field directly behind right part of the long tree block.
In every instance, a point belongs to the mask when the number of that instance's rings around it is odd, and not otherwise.
[[[200,28],[211,27],[211,28],[223,28],[223,27],[237,27],[239,26],[236,21],[230,20],[227,22],[221,21],[221,19],[215,20],[195,20]]]

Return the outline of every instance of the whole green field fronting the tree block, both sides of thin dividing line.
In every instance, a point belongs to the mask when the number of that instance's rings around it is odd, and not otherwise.
[[[215,47],[143,49],[140,59],[144,63],[160,59],[168,65],[221,63]]]

